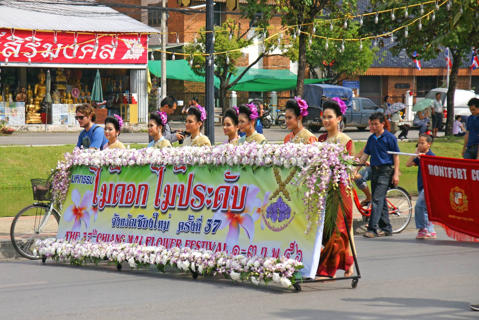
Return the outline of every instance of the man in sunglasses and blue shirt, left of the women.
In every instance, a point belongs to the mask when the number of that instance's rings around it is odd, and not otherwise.
[[[80,124],[81,130],[78,136],[77,147],[85,149],[103,150],[103,145],[108,142],[101,127],[97,126],[96,112],[91,105],[85,103],[75,109],[75,119]]]

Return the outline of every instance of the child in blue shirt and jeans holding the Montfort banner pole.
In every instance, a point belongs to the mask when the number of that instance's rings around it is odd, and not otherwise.
[[[416,239],[435,239],[436,232],[434,226],[429,222],[427,216],[426,200],[424,198],[424,188],[422,186],[422,174],[421,174],[421,156],[422,155],[435,155],[431,151],[431,144],[433,144],[433,137],[429,134],[422,133],[419,135],[418,147],[415,154],[417,156],[411,156],[406,162],[406,166],[418,167],[418,191],[419,197],[416,201],[414,208],[414,220],[416,221],[416,228],[419,229]]]

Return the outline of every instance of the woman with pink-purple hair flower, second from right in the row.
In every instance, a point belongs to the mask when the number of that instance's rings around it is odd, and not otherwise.
[[[318,141],[314,134],[303,127],[303,122],[307,115],[308,104],[305,100],[295,97],[286,102],[286,127],[288,130],[292,130],[292,132],[286,135],[285,143],[311,144]]]

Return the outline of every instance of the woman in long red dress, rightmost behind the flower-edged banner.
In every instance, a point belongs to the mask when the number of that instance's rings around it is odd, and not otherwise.
[[[340,131],[341,119],[346,111],[344,102],[340,98],[327,99],[322,103],[322,109],[323,126],[328,132],[319,136],[319,142],[339,142],[344,146],[347,154],[355,154],[353,140]],[[337,229],[333,231],[331,237],[323,237],[324,248],[321,250],[318,271],[316,272],[319,279],[336,277],[338,269],[345,271],[344,276],[351,276],[354,272],[353,251],[349,245],[349,238],[351,237],[353,240],[353,198],[344,185],[340,184],[339,189],[344,212],[342,212],[341,207],[338,209]],[[344,216],[350,230],[349,235],[344,223]]]

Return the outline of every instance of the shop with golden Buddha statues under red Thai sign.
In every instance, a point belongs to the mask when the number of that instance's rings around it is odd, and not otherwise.
[[[123,113],[129,123],[146,122],[148,35],[142,33],[155,29],[125,15],[122,19],[132,26],[106,23],[104,30],[93,31],[97,24],[74,31],[39,31],[19,23],[0,28],[0,119],[9,125],[73,125],[76,105],[98,103],[99,123],[110,113]],[[103,104],[92,99],[97,70]],[[51,103],[44,101],[48,85]]]

